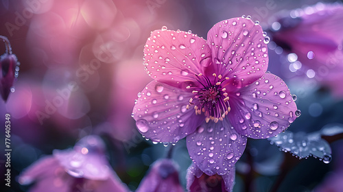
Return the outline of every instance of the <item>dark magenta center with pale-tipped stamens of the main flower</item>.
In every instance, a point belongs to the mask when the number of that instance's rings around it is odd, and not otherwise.
[[[222,82],[228,80],[228,77],[222,79],[222,75],[216,75],[213,73],[215,79],[213,82],[209,80],[200,73],[196,75],[198,82],[202,84],[202,87],[194,88],[192,93],[194,96],[189,99],[189,105],[194,106],[196,110],[196,115],[200,115],[202,112],[206,116],[206,123],[209,120],[215,121],[217,123],[219,120],[223,121],[225,115],[230,112],[230,104],[228,104],[228,93],[226,93],[226,88],[222,87]],[[187,86],[187,88],[191,88]]]

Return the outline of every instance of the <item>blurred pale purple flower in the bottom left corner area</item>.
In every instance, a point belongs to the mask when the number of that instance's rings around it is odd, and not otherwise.
[[[129,191],[104,156],[98,136],[86,136],[73,149],[54,150],[19,177],[19,183],[34,182],[31,191]]]

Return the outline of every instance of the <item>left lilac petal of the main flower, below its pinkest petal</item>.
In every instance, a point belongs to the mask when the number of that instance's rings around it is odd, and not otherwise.
[[[161,82],[147,84],[132,113],[139,132],[152,141],[173,143],[193,133],[204,116],[196,115],[193,108],[187,110],[192,96]]]

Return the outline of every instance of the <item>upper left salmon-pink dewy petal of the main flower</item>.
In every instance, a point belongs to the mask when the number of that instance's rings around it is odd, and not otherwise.
[[[154,80],[175,84],[194,81],[211,64],[206,40],[182,31],[156,30],[144,47],[147,74]]]

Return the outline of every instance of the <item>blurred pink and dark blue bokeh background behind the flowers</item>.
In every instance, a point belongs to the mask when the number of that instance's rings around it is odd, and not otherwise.
[[[142,64],[150,32],[167,26],[206,38],[215,23],[244,14],[267,29],[276,13],[318,2],[336,1],[1,0],[0,34],[8,37],[21,63],[14,93],[6,103],[0,101],[1,126],[5,113],[12,117],[10,190],[29,189],[16,177],[38,158],[98,134],[106,143],[110,165],[134,191],[149,166],[171,147],[145,141],[131,117],[137,93],[152,80]],[[343,123],[342,95],[318,84],[311,71],[299,72],[301,66],[294,64],[292,55],[270,46],[268,71],[285,80],[302,111],[288,130],[309,133]],[[0,45],[0,53],[4,52]],[[0,138],[4,143],[3,133]],[[342,170],[341,138],[328,141],[333,159],[329,164],[313,157],[299,160],[267,140],[249,140],[237,163],[234,191],[247,191],[247,183],[254,191],[269,191],[277,182],[279,191],[312,191],[335,170]],[[4,147],[0,145],[1,152]],[[174,146],[173,154],[185,187],[191,164],[185,140]],[[2,182],[4,162],[1,156]],[[283,166],[289,172],[281,178]]]

